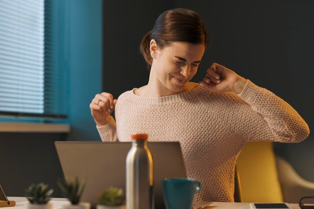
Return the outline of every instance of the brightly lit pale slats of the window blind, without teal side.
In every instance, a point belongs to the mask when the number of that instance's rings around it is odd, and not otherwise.
[[[0,111],[44,113],[44,0],[0,1]]]

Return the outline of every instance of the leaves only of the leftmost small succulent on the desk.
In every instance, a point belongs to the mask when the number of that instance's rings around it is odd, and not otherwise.
[[[50,200],[50,196],[53,191],[53,189],[48,189],[48,184],[32,183],[25,189],[25,196],[31,203],[46,204]]]

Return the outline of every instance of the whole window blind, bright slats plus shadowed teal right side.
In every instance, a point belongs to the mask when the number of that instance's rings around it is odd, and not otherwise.
[[[0,0],[0,115],[66,118],[67,35],[58,9],[53,0]]]

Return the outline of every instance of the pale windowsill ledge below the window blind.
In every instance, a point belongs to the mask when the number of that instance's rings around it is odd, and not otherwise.
[[[70,132],[69,124],[0,122],[0,132]]]

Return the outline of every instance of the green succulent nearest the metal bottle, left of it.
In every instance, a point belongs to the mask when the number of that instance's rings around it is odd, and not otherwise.
[[[124,195],[122,188],[110,186],[104,190],[98,198],[98,204],[107,206],[118,206],[124,203]]]

